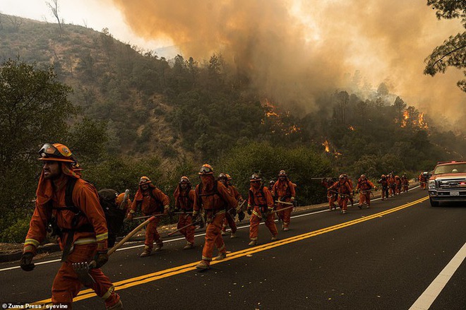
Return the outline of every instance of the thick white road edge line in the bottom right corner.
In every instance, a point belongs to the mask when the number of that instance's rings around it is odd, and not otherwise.
[[[443,287],[448,283],[453,273],[460,267],[462,261],[466,258],[466,243],[462,246],[460,251],[451,259],[450,263],[443,268],[441,273],[437,275],[437,278],[426,288],[421,296],[414,302],[410,310],[423,309],[427,310],[434,303],[434,300],[438,297]]]

